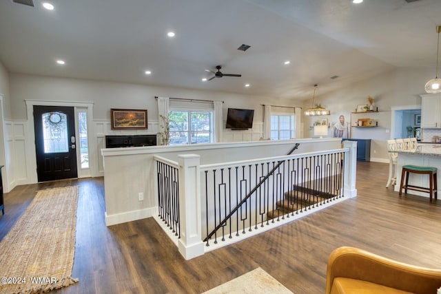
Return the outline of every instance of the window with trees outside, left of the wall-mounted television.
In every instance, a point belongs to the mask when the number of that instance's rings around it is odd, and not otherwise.
[[[213,114],[209,111],[171,111],[170,145],[213,142]]]

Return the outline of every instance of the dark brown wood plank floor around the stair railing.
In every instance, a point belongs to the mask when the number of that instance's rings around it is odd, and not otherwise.
[[[327,258],[338,246],[441,267],[441,200],[399,197],[384,187],[388,169],[358,162],[357,198],[189,261],[152,218],[105,227],[103,178],[16,187],[5,195],[0,239],[37,190],[79,185],[72,276],[80,282],[62,293],[201,293],[258,266],[296,294],[324,293]]]

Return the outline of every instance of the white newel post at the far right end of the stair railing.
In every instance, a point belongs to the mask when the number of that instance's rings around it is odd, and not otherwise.
[[[345,187],[344,195],[349,198],[357,196],[356,174],[357,174],[357,142],[343,141],[343,147],[349,148],[349,153],[345,153]]]

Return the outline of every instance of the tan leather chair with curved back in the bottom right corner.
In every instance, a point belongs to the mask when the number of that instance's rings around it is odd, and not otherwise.
[[[327,264],[326,294],[435,294],[440,286],[440,269],[404,264],[353,247],[335,249]]]

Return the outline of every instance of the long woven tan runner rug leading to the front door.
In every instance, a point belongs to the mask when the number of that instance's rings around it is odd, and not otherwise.
[[[0,293],[42,293],[78,282],[75,253],[78,187],[37,192],[0,242]]]

